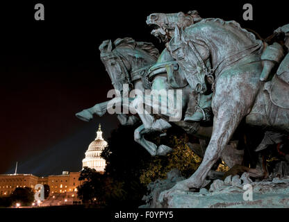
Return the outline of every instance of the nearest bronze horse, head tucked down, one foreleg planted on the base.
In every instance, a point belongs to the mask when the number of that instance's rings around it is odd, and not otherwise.
[[[177,189],[204,187],[208,183],[208,171],[243,118],[254,126],[289,132],[289,110],[274,107],[262,92],[264,84],[259,78],[263,69],[263,44],[239,24],[222,19],[203,19],[184,30],[176,27],[167,48],[196,92],[206,92],[205,79],[213,76],[214,119],[212,137],[197,171],[164,191],[160,199]]]

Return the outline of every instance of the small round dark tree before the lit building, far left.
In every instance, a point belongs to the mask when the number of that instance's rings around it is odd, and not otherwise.
[[[34,201],[34,193],[30,187],[17,187],[10,195],[15,203],[21,203],[22,206],[31,205]]]

